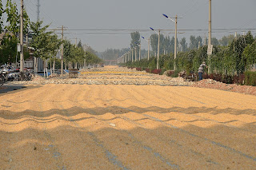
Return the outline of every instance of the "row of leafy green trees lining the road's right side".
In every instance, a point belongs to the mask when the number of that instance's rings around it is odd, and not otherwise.
[[[153,38],[152,38],[153,37]],[[151,36],[154,39],[154,35]],[[192,41],[191,41],[192,40]],[[190,47],[184,51],[179,51],[176,61],[174,62],[174,53],[162,54],[159,59],[161,69],[174,69],[176,64],[177,72],[186,70],[197,72],[202,61],[206,61],[206,65],[210,65],[210,73],[219,73],[222,75],[239,75],[250,69],[256,63],[256,38],[250,31],[244,36],[225,36],[221,40],[215,42],[213,54],[208,57],[208,45],[201,45],[202,38],[190,37]],[[154,41],[151,42],[152,48]],[[170,45],[171,43],[169,43]],[[198,46],[199,45],[199,48]],[[164,48],[164,45],[162,45]],[[161,48],[161,45],[160,45]],[[153,48],[155,49],[155,47]],[[156,69],[157,58],[150,57],[150,61],[142,59],[136,62],[127,62],[130,67],[144,67]]]

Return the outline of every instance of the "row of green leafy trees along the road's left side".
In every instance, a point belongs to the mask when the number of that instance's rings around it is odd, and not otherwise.
[[[6,15],[6,18],[4,17]],[[24,34],[29,41],[26,42],[24,53],[25,59],[30,57],[28,47],[33,49],[34,57],[42,58],[44,67],[46,61],[58,61],[56,55],[62,43],[64,44],[63,58],[65,66],[78,67],[102,62],[94,50],[87,46],[83,48],[81,42],[73,45],[69,40],[61,40],[54,31],[49,30],[50,25],[43,26],[42,21],[30,22],[30,18],[24,10]],[[5,20],[6,19],[6,20]],[[6,6],[0,0],[0,63],[19,61],[18,43],[20,30],[20,14],[16,2],[7,0]],[[85,51],[85,49],[88,49]],[[58,61],[60,62],[60,61]]]

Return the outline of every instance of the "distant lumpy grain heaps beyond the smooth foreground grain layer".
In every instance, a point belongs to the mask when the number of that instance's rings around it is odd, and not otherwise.
[[[78,78],[44,78],[36,76],[33,81],[13,81],[10,84],[45,85],[45,84],[86,84],[86,85],[192,85],[182,78],[171,78],[156,74],[136,71],[122,67],[87,69],[79,73]]]

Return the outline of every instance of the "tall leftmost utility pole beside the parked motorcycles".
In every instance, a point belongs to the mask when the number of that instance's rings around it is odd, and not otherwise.
[[[23,0],[21,0],[21,53],[20,53],[20,72],[21,79],[24,79],[24,53],[23,53]]]

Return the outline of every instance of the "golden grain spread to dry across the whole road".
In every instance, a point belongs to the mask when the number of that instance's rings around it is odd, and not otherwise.
[[[256,167],[254,95],[125,68],[28,84],[0,98],[0,169]]]

